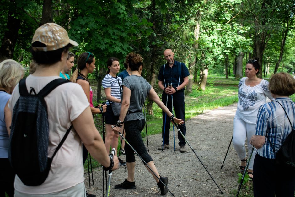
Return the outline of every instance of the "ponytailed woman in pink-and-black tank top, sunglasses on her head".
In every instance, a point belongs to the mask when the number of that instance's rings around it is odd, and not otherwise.
[[[89,73],[92,73],[95,69],[95,57],[92,53],[86,52],[82,53],[78,59],[77,59],[77,69],[73,73],[73,75],[70,78],[70,81],[77,83],[82,86],[82,89],[84,90],[86,97],[88,99],[88,102],[90,104],[90,109],[92,114],[103,114],[106,112],[106,105],[98,105],[93,106],[92,103],[92,89],[90,86],[90,82],[87,79],[87,75]],[[83,144],[83,164],[85,163],[88,155],[88,150],[85,148]],[[93,194],[86,193],[87,196],[94,197]]]

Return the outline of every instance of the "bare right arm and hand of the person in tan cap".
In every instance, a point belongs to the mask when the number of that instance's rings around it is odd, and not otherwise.
[[[78,118],[73,121],[73,126],[90,154],[103,166],[109,167],[110,158],[106,151],[105,144],[94,125],[90,107],[87,107]],[[114,167],[112,170],[116,170],[119,163],[118,157],[114,156],[113,160]]]

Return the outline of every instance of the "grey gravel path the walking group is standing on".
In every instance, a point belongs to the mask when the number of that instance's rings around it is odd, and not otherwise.
[[[169,178],[168,188],[175,196],[233,196],[230,190],[238,188],[237,173],[239,173],[238,166],[240,165],[233,145],[230,146],[223,169],[220,167],[233,134],[233,117],[236,109],[237,104],[219,107],[185,122],[186,139],[223,194],[188,145],[185,146],[188,150],[186,153],[179,152],[177,134],[175,134],[176,153],[174,153],[172,126],[169,139],[170,149],[163,152],[157,149],[162,143],[161,134],[148,136],[149,154],[153,158],[159,174]],[[124,155],[120,158],[125,160]],[[118,170],[113,172],[110,196],[161,196],[152,175],[147,171],[140,158],[138,156],[135,158],[136,189],[114,189],[116,184],[120,184],[127,178],[125,167],[120,166]],[[102,196],[102,168],[94,169],[94,185],[91,182],[90,189],[88,173],[85,173],[85,186],[87,192]],[[172,195],[168,192],[166,196]]]

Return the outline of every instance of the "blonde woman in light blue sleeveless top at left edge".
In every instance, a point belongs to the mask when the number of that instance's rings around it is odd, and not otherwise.
[[[24,68],[12,59],[0,63],[0,196],[14,195],[14,177],[8,161],[8,145],[11,124],[9,98],[14,87],[24,76]]]

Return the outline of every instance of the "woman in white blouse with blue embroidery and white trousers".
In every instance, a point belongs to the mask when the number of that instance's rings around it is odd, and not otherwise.
[[[266,103],[266,97],[273,99],[268,90],[268,81],[257,77],[260,69],[258,58],[249,59],[246,63],[245,75],[239,82],[238,108],[233,119],[233,147],[241,160],[241,171],[246,168],[246,149],[247,140],[248,158],[252,150],[249,139],[255,134],[256,117],[259,107]],[[256,149],[254,149],[248,166],[248,175],[253,178],[253,162]]]

